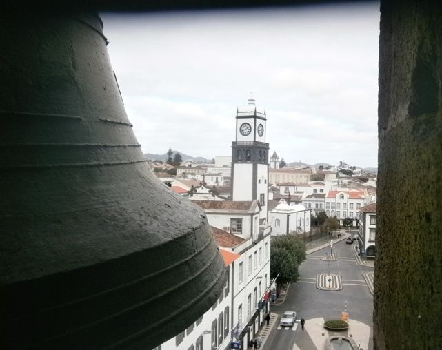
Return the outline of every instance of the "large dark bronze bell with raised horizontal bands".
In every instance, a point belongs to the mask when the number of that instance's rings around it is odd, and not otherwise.
[[[0,348],[151,349],[223,289],[204,213],[148,169],[97,15],[1,20]]]

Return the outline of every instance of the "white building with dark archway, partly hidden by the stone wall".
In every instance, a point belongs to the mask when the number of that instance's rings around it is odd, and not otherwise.
[[[359,248],[363,257],[374,259],[376,252],[376,203],[359,208]]]

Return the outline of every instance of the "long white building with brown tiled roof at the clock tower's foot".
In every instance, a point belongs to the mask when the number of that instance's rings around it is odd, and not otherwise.
[[[252,201],[194,201],[204,209],[210,225],[243,240],[231,247],[232,252],[241,254],[232,268],[232,330],[243,341],[254,338],[259,325],[269,309],[270,288],[270,233],[271,228],[259,226],[260,207]],[[215,348],[217,349],[217,348]],[[221,349],[221,348],[219,348]]]

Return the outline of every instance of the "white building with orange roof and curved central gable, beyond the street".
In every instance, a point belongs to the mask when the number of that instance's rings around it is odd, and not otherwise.
[[[365,195],[352,189],[329,191],[325,196],[325,214],[336,216],[342,225],[344,218],[352,218],[356,226],[359,208],[364,205]]]

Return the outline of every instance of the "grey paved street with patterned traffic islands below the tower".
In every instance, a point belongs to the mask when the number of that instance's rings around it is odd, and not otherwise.
[[[337,260],[334,261],[330,259],[330,247],[307,256],[299,269],[301,278],[290,285],[285,301],[271,305],[272,313],[278,316],[286,310],[297,311],[298,321],[305,319],[305,331],[299,323],[291,328],[279,327],[278,317],[264,344],[265,350],[322,350],[325,338],[332,335],[323,328],[323,322],[340,319],[345,309],[350,327],[339,334],[351,336],[363,350],[373,348],[373,267],[356,263],[354,244],[346,244],[345,239],[335,242],[332,258]],[[341,289],[336,290],[337,284]]]

